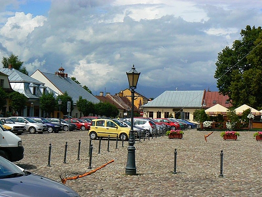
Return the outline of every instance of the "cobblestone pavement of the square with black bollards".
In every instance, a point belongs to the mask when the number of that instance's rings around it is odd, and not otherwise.
[[[262,196],[261,145],[253,131],[240,132],[237,140],[223,140],[221,132],[188,130],[183,139],[167,136],[136,141],[137,175],[125,175],[127,145],[107,139],[92,140],[92,169],[117,158],[97,172],[68,180],[66,185],[81,196]],[[72,131],[20,136],[25,156],[17,165],[61,182],[59,175],[75,176],[89,172],[88,131]],[[80,160],[78,144],[81,140]],[[66,163],[65,142],[68,142]],[[51,161],[48,147],[51,143]],[[177,174],[174,170],[174,150],[177,149]],[[223,177],[220,175],[220,153],[223,150]]]

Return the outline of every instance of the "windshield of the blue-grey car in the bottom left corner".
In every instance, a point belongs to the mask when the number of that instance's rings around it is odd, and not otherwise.
[[[22,169],[12,162],[0,157],[0,179],[26,175]]]

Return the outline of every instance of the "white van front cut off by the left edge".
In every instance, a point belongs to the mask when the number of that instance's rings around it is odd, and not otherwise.
[[[5,130],[2,125],[0,125],[0,156],[11,162],[24,158],[24,146],[21,138],[11,131]]]

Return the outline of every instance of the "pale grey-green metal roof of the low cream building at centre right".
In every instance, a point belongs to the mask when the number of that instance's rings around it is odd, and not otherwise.
[[[143,107],[200,108],[204,90],[165,91]]]

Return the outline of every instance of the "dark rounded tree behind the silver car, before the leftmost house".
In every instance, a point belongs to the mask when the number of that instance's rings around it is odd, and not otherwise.
[[[9,95],[10,106],[14,111],[18,112],[18,115],[22,116],[22,111],[25,109],[28,98],[17,91],[11,92]]]

